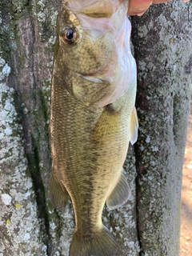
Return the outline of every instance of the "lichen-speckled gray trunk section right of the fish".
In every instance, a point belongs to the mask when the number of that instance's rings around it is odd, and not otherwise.
[[[191,3],[132,18],[138,64],[135,146],[141,255],[178,255],[182,163],[191,84]]]

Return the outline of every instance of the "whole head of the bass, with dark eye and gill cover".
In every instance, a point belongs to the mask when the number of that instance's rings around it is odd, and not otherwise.
[[[58,14],[54,73],[86,106],[106,106],[130,88],[134,64],[127,4],[68,0]]]

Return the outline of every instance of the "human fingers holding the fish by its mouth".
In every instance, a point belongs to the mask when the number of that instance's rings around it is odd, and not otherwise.
[[[189,2],[190,0],[182,0],[182,2]],[[170,2],[170,0],[130,0],[129,15],[139,15],[141,16],[146,12],[152,3],[158,4],[162,2]]]

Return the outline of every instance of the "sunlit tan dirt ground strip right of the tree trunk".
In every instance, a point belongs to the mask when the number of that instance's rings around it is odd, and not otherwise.
[[[192,103],[182,176],[180,256],[192,256]]]

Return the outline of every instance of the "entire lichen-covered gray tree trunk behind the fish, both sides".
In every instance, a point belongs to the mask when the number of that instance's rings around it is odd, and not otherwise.
[[[0,256],[67,256],[71,203],[49,200],[50,82],[62,0],[0,1]],[[132,196],[103,222],[119,256],[179,254],[182,162],[189,114],[191,2],[130,18],[138,64],[138,142],[125,162]]]

